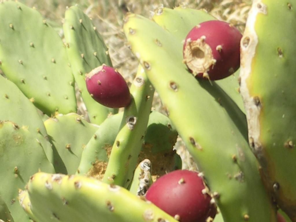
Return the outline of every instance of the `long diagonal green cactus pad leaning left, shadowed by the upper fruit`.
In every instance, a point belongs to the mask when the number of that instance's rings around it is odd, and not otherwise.
[[[274,207],[247,143],[244,113],[218,84],[196,80],[187,72],[182,44],[172,34],[133,14],[123,28],[223,219],[275,222]]]

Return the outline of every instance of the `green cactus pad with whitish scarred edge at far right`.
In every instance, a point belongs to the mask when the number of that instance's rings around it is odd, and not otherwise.
[[[241,41],[240,74],[250,146],[268,190],[292,221],[296,221],[295,8],[295,0],[253,1]]]

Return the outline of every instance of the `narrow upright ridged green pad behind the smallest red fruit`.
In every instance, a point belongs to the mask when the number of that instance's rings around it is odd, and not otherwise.
[[[112,66],[108,49],[92,21],[78,6],[67,9],[63,29],[68,58],[90,121],[101,124],[116,109],[105,107],[91,98],[86,89],[85,74],[102,64]]]

